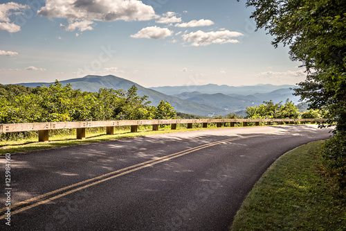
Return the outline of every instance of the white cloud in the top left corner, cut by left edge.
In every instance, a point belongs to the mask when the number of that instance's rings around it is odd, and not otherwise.
[[[10,15],[18,15],[21,10],[28,8],[26,5],[9,2],[0,4],[0,30],[16,33],[21,30],[21,27],[11,22]]]

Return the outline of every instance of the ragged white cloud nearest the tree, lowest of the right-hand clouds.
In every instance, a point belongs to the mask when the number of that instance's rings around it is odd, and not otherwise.
[[[181,37],[183,37],[185,42],[191,42],[191,46],[207,46],[210,44],[239,43],[238,40],[233,40],[231,38],[242,35],[242,33],[235,31],[197,31],[183,34]]]

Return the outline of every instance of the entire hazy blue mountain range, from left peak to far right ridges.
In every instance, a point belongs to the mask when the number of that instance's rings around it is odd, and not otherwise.
[[[298,103],[299,98],[293,96],[290,87],[294,85],[255,85],[230,87],[228,85],[201,85],[178,87],[145,88],[137,83],[116,76],[85,76],[60,81],[62,85],[71,83],[73,89],[86,92],[98,92],[101,87],[113,89],[129,89],[132,85],[138,88],[139,96],[149,96],[152,105],[158,105],[161,100],[168,101],[177,112],[199,116],[226,115],[239,112],[246,107],[259,105],[263,101],[273,100],[275,103],[286,101],[287,98]],[[26,87],[37,87],[52,83],[18,83]]]

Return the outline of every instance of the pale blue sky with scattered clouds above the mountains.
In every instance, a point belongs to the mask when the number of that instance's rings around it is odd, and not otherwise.
[[[0,2],[0,83],[114,75],[143,87],[291,84],[289,48],[240,0]]]

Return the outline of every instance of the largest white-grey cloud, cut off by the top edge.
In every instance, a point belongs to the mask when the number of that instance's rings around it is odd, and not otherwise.
[[[155,17],[152,6],[137,0],[47,0],[37,15],[75,21],[146,21]]]

